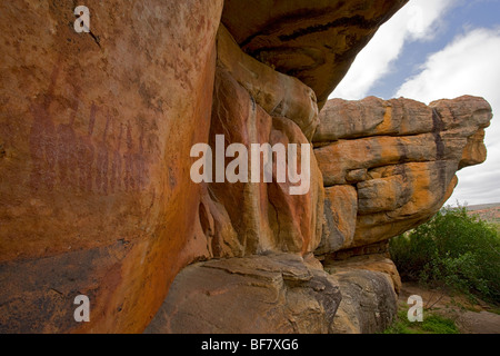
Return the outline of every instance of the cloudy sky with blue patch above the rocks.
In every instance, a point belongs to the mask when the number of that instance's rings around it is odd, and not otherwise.
[[[331,95],[429,103],[472,95],[493,108],[488,159],[458,172],[447,205],[500,202],[500,0],[410,0],[358,55]]]

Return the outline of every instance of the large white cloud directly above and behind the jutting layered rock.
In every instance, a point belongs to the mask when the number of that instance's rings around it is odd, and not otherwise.
[[[487,129],[488,159],[458,172],[459,185],[448,200],[463,204],[500,202],[500,29],[476,29],[433,53],[421,72],[407,80],[397,96],[429,102],[473,95],[487,99],[498,118]]]

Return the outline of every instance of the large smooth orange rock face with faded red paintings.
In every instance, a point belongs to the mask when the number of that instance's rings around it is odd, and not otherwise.
[[[222,1],[86,6],[92,34],[72,2],[0,4],[2,333],[142,332],[200,254],[187,157],[208,140]]]

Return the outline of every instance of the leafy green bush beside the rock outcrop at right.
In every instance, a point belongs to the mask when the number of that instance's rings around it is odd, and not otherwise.
[[[496,227],[444,208],[430,221],[390,241],[403,279],[447,285],[500,303],[500,237]]]

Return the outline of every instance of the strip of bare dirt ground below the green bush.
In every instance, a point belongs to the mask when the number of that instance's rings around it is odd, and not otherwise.
[[[406,304],[411,295],[421,296],[423,313],[433,312],[456,320],[463,334],[500,334],[500,315],[489,312],[484,303],[471,304],[464,296],[454,296],[440,290],[423,289],[416,284],[403,284],[399,301]]]

